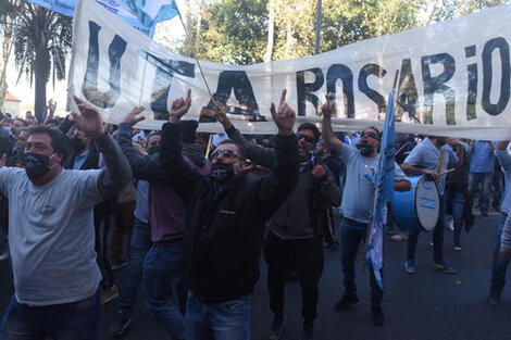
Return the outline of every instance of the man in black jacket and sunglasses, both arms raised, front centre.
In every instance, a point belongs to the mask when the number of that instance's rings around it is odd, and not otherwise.
[[[298,178],[295,112],[281,99],[272,115],[278,127],[273,172],[258,180],[242,173],[244,151],[219,144],[213,172],[201,176],[183,161],[180,117],[191,104],[173,102],[162,128],[160,160],[165,177],[187,205],[185,278],[189,284],[187,340],[241,340],[250,335],[250,294],[259,279],[264,223],[291,192]]]

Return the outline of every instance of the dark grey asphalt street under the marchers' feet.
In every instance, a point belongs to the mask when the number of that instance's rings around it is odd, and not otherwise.
[[[462,251],[452,250],[452,232],[445,231],[444,257],[458,270],[456,275],[432,268],[432,235],[422,232],[416,252],[417,274],[403,270],[407,241],[385,242],[385,298],[383,310],[385,326],[375,327],[371,319],[369,273],[361,273],[359,252],[357,284],[359,303],[344,312],[333,310],[342,293],[342,275],[339,251],[325,253],[325,265],[320,281],[320,300],[315,339],[378,339],[378,340],[434,340],[434,339],[511,339],[511,294],[509,288],[499,306],[486,303],[491,276],[491,256],[495,234],[500,214],[489,218],[477,216],[470,234],[462,234]],[[272,322],[266,289],[264,261],[261,260],[261,278],[252,295],[251,339],[266,339]],[[121,286],[123,269],[115,273]],[[3,315],[13,293],[9,266],[0,263],[0,313]],[[509,275],[508,275],[509,279]],[[170,339],[154,322],[138,295],[133,323],[123,340]],[[99,339],[112,339],[108,329],[115,316],[116,301],[103,305],[99,325]],[[302,319],[301,293],[298,282],[286,285],[286,325],[283,339],[299,339]]]

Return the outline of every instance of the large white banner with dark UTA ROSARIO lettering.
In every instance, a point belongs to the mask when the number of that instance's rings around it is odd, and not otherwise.
[[[325,95],[336,129],[382,125],[399,71],[396,130],[511,139],[511,5],[349,45],[320,55],[249,66],[202,61],[216,101],[245,133],[273,133],[270,104],[287,88],[298,122],[320,123]],[[211,122],[212,101],[194,59],[166,50],[92,0],[78,4],[70,90],[122,122],[146,106],[139,126],[155,129],[172,101],[191,88],[189,118]],[[201,130],[220,130],[217,123]]]

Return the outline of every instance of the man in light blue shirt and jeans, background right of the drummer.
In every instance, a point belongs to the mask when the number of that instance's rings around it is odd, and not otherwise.
[[[489,140],[476,140],[472,146],[469,173],[469,206],[474,205],[474,196],[481,184],[479,209],[483,217],[488,217],[491,179],[495,172],[495,144]]]

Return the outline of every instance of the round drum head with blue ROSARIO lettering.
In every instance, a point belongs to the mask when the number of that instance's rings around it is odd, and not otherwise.
[[[419,224],[426,231],[435,229],[440,215],[440,199],[434,181],[421,177],[415,187],[415,213]]]

